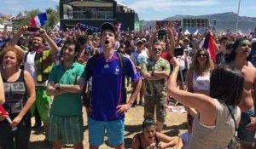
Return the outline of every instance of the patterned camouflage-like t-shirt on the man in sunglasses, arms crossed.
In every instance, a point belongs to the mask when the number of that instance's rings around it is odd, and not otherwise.
[[[167,71],[170,73],[171,68],[167,60],[160,58],[156,62],[150,57],[142,66],[142,72]],[[148,96],[166,96],[166,78],[160,80],[145,79],[144,95]]]

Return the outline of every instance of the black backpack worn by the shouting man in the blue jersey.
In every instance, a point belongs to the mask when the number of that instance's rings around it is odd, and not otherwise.
[[[126,86],[125,86],[125,72],[126,72],[126,64],[125,64],[125,57],[123,54],[120,53],[116,53],[119,57],[119,66],[122,69],[122,104],[126,103],[126,99],[127,99],[127,93],[126,93]],[[98,58],[100,54],[95,54],[93,55],[90,59],[91,59],[91,63],[90,63],[90,67],[86,66],[86,71],[89,72],[93,72],[93,67],[96,64],[96,60]],[[87,92],[85,92],[85,88],[83,90],[83,104],[85,107],[90,106],[90,100],[91,100],[91,90],[88,90]]]

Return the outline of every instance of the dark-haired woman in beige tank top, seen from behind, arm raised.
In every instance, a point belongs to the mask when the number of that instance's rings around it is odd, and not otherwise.
[[[210,95],[189,93],[176,88],[179,63],[174,58],[174,69],[167,84],[167,92],[184,106],[197,109],[189,137],[189,149],[226,149],[235,134],[241,111],[243,77],[230,66],[217,66],[210,77]]]

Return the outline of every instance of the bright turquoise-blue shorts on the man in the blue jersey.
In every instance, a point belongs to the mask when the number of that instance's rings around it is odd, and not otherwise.
[[[125,120],[97,121],[88,116],[88,130],[90,146],[101,146],[107,130],[108,145],[119,146],[124,143]]]

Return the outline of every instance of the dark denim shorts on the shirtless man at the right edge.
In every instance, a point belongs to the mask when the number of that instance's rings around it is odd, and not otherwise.
[[[250,117],[254,117],[254,109],[248,110],[247,112],[241,112],[241,120],[237,130],[237,135],[240,140],[248,144],[255,141],[255,131],[245,128],[248,123],[251,123]]]

